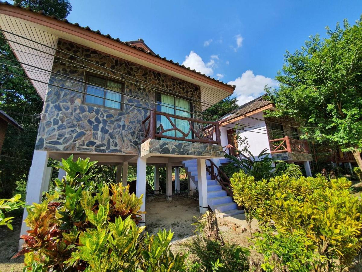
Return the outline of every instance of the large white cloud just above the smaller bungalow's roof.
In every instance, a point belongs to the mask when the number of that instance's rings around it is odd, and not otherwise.
[[[239,105],[243,105],[264,94],[265,85],[269,87],[278,86],[274,79],[264,77],[264,75],[254,75],[252,70],[245,71],[241,77],[229,81],[228,84],[236,86],[234,95],[237,97]]]

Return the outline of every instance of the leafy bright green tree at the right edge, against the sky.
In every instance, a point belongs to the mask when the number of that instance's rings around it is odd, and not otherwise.
[[[307,138],[352,151],[362,169],[362,17],[327,34],[286,53],[279,90],[266,90],[280,111],[269,114],[306,121]]]

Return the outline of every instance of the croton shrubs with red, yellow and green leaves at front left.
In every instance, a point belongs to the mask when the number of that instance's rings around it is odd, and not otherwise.
[[[96,162],[73,156],[53,194],[28,207],[25,271],[182,271],[185,256],[169,250],[173,233],[149,236],[138,227],[142,196],[121,184],[93,182]]]

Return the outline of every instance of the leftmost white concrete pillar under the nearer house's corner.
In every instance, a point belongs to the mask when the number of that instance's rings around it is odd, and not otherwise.
[[[26,185],[26,198],[25,202],[28,205],[35,203],[41,203],[43,189],[48,187],[45,183],[47,164],[48,164],[49,154],[47,151],[35,150],[33,154],[33,160],[31,161],[31,167],[29,170],[28,184]],[[20,235],[26,234],[26,231],[29,230],[29,227],[26,226],[24,220],[28,217],[28,212],[24,209],[23,222],[21,225]],[[19,240],[19,249],[21,249],[24,240]]]

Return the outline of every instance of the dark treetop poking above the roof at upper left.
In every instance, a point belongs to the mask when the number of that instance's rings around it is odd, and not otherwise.
[[[72,11],[68,0],[14,0],[14,4],[29,7],[33,11],[43,11],[46,15],[54,15],[60,20],[65,19]]]

